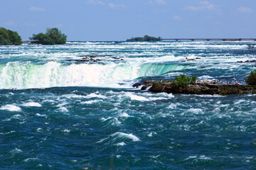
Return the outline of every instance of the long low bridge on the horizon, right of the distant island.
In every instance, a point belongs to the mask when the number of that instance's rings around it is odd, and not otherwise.
[[[256,38],[162,38],[161,40],[191,40],[191,41],[242,41],[242,40],[253,40],[256,41]]]

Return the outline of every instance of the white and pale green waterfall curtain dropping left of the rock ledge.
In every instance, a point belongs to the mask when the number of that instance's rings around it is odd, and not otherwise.
[[[53,86],[130,87],[127,81],[166,74],[188,66],[169,63],[60,64],[8,62],[0,64],[0,89],[33,89]],[[121,85],[122,84],[122,85]]]

